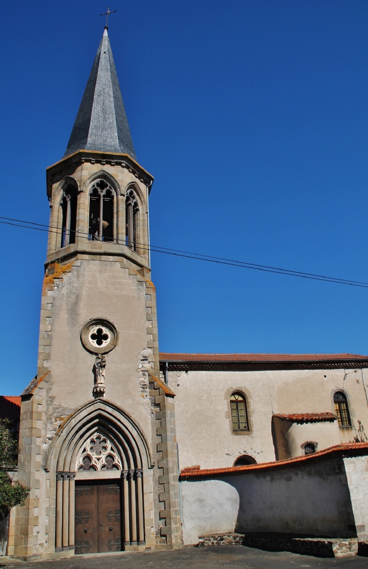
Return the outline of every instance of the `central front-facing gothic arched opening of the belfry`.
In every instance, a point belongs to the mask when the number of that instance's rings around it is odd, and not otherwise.
[[[105,180],[97,180],[90,189],[88,238],[114,240],[114,191]]]

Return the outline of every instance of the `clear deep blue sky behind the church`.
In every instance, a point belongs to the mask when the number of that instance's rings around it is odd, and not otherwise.
[[[3,10],[2,216],[48,223],[103,32],[94,0]],[[151,241],[368,281],[368,3],[160,0],[111,9]],[[10,9],[9,9],[10,10]],[[1,393],[36,372],[46,235],[0,225]],[[161,351],[368,353],[368,290],[152,254]],[[68,357],[68,354],[65,354]]]

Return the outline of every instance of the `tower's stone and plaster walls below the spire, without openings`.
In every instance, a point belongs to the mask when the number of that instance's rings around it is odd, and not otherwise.
[[[149,375],[160,374],[156,290],[147,249],[152,176],[122,158],[77,152],[48,168],[52,229],[38,373],[22,394],[20,416],[18,479],[31,488],[26,504],[16,508],[14,554],[21,559],[74,555],[76,457],[98,425],[111,429],[107,435],[120,458],[131,462],[122,472],[140,473],[131,487],[137,485],[137,502],[142,498],[144,504],[144,541],[137,544],[132,538],[127,547],[181,545],[175,394],[168,400]],[[101,178],[115,192],[114,242],[87,238],[89,188]],[[77,237],[60,249],[65,184],[78,190]],[[130,188],[140,205],[135,251],[125,245],[125,192]],[[104,397],[94,393],[96,352],[81,336],[91,319],[107,321],[117,331],[106,353]]]

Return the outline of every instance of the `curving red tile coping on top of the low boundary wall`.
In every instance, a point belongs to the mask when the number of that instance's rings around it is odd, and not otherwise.
[[[323,451],[318,451],[311,455],[296,456],[293,459],[278,460],[269,463],[249,464],[246,466],[228,468],[208,468],[203,470],[200,470],[198,468],[184,468],[180,472],[180,478],[181,480],[190,480],[193,478],[214,478],[216,476],[237,475],[254,470],[273,469],[280,467],[282,468],[288,465],[296,465],[298,463],[304,463],[306,461],[313,461],[319,457],[334,455],[335,453],[343,453],[344,451],[351,451],[351,456],[360,456],[362,454],[368,455],[368,442],[336,444],[333,447],[325,448]]]

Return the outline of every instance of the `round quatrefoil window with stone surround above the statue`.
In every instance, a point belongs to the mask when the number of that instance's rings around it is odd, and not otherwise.
[[[118,332],[114,324],[102,318],[89,320],[82,328],[81,341],[87,351],[106,354],[115,348]]]

